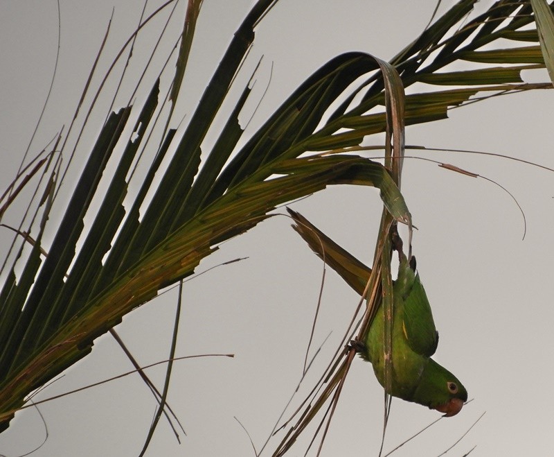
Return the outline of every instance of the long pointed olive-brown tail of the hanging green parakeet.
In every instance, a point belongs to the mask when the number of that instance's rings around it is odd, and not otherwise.
[[[362,295],[371,274],[371,268],[356,259],[350,252],[341,248],[304,216],[290,208],[287,208],[287,211],[295,222],[292,227],[302,236],[316,255],[339,273],[342,279],[359,295]]]

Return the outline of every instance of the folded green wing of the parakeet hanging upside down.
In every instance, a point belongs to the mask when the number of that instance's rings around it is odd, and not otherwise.
[[[395,308],[402,319],[406,343],[416,354],[430,357],[438,345],[431,306],[420,276],[412,270],[404,254],[400,255],[398,277],[394,285]]]

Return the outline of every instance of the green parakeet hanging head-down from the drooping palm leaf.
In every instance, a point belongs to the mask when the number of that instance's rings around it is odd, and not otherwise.
[[[298,232],[310,248],[332,267],[360,295],[371,269],[343,250],[300,214],[288,209]],[[390,392],[394,397],[436,409],[445,416],[461,411],[467,390],[458,379],[431,359],[438,345],[438,333],[431,307],[420,277],[404,253],[399,252],[400,266],[393,284],[392,375]],[[379,304],[375,318],[361,341],[361,356],[370,361],[379,383],[385,387],[384,329],[385,316]]]

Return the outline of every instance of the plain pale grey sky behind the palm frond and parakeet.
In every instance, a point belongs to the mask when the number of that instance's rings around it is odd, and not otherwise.
[[[184,82],[186,97],[199,94],[204,87],[250,3],[204,1],[190,73]],[[270,62],[274,70],[267,96],[247,134],[334,55],[360,50],[391,58],[422,31],[434,3],[281,0],[258,27],[248,60],[247,69],[251,69],[260,55],[265,55],[246,119],[267,84]],[[483,3],[481,8],[489,2]],[[451,4],[446,2],[441,10]],[[140,14],[139,2],[61,2],[57,80],[33,151],[40,150],[62,124],[69,123],[114,5],[112,34],[100,62],[102,69],[132,33]],[[180,8],[182,11],[184,5]],[[145,35],[142,44],[153,40],[160,24],[158,21],[149,28],[150,35]],[[26,148],[53,71],[55,2],[3,1],[0,25],[0,154],[5,187]],[[180,26],[180,19],[174,21],[174,35],[166,40],[165,49],[171,46]],[[135,68],[141,67],[141,53],[135,52]],[[546,73],[537,75],[526,77],[546,80]],[[241,78],[247,80],[248,71]],[[129,92],[120,103],[128,96]],[[407,128],[406,143],[486,150],[554,167],[553,101],[554,93],[544,91],[494,98],[454,110],[449,120]],[[192,98],[181,100],[179,113],[190,115],[194,105]],[[92,130],[87,139],[98,131],[96,127]],[[213,137],[206,145],[210,141]],[[80,149],[76,159],[79,164],[85,152],[86,147]],[[410,155],[409,151],[406,154]],[[449,455],[461,456],[474,445],[474,456],[548,455],[554,447],[554,177],[505,159],[447,153],[427,153],[426,157],[456,164],[508,187],[524,208],[528,232],[521,241],[519,211],[498,187],[406,159],[402,191],[419,227],[413,249],[440,331],[436,359],[463,381],[474,401],[461,414],[442,420],[394,455],[438,455],[484,411],[483,420]],[[71,180],[66,183],[68,189],[69,184]],[[294,208],[358,257],[370,261],[380,215],[376,191],[328,189],[298,202]],[[162,419],[148,455],[253,455],[247,435],[233,416],[244,424],[258,449],[271,432],[301,376],[321,280],[321,262],[289,228],[289,222],[285,217],[272,218],[229,241],[206,259],[199,271],[235,257],[249,259],[186,283],[177,354],[219,352],[233,353],[235,358],[175,364],[169,402],[188,436],[181,437],[182,444],[178,445]],[[175,302],[175,293],[168,293],[128,315],[118,327],[141,363],[166,358]],[[314,338],[316,347],[330,331],[332,335],[296,404],[328,363],[356,304],[355,293],[329,272]],[[40,397],[130,369],[114,340],[105,336],[96,341],[91,356]],[[160,388],[163,372],[164,368],[150,371]],[[49,438],[34,455],[137,455],[155,406],[138,376],[44,404],[40,409]],[[382,414],[382,389],[370,365],[355,361],[323,456],[377,455]],[[395,400],[385,449],[436,417],[436,411]],[[10,429],[0,436],[0,454],[19,456],[43,438],[44,426],[36,411],[29,409],[17,415]],[[290,455],[303,455],[303,445],[305,442],[298,443]]]

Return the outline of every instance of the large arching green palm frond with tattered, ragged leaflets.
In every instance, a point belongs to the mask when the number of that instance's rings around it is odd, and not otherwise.
[[[456,3],[387,64],[388,71],[400,74],[404,87],[456,85],[456,89],[406,96],[400,113],[406,125],[444,119],[449,107],[463,105],[480,91],[498,94],[546,87],[526,84],[519,76],[522,69],[544,67],[537,33],[528,29],[533,23],[530,5],[522,0],[498,1],[465,21],[474,3]],[[251,92],[245,87],[215,146],[201,150],[254,40],[254,26],[273,4],[273,0],[260,0],[253,6],[182,135],[175,128],[161,138],[148,135],[160,119],[159,83],[154,83],[141,109],[141,103],[136,103],[109,115],[59,225],[47,223],[49,203],[37,206],[38,222],[26,230],[35,245],[19,276],[8,264],[0,291],[0,430],[8,427],[33,390],[88,354],[93,340],[117,325],[125,313],[193,274],[218,243],[249,230],[276,205],[329,184],[362,184],[379,188],[397,221],[409,218],[400,191],[381,164],[352,151],[320,154],[358,146],[367,135],[387,130],[387,122],[394,118],[389,104],[388,114],[373,110],[394,94],[384,94],[384,87],[390,91],[391,86],[379,71],[383,62],[366,53],[345,53],[324,64],[238,148],[243,135],[238,115]],[[513,40],[517,46],[494,49],[492,44],[499,38]],[[522,42],[532,45],[521,46]],[[483,51],[483,46],[488,49]],[[479,69],[441,72],[460,60],[479,62]],[[483,63],[490,66],[483,68]],[[182,75],[181,70],[175,73]],[[350,88],[361,76],[365,83]],[[345,94],[347,89],[350,92]],[[392,87],[393,92],[400,89]],[[356,97],[360,92],[364,95]],[[175,103],[177,94],[172,92],[171,97]],[[125,129],[129,123],[133,129]],[[124,136],[129,130],[137,135],[132,141]],[[60,145],[64,145],[62,154],[71,155],[65,141]],[[139,191],[127,195],[132,184],[127,181],[128,171],[143,148],[154,159],[145,175],[135,178]],[[304,153],[311,155],[301,157]],[[170,164],[162,173],[166,156],[171,157]],[[113,169],[106,169],[108,159],[116,160]],[[51,202],[60,186],[54,176],[64,173],[57,169],[45,173],[52,177],[48,182],[55,183],[44,200]],[[98,187],[102,173],[111,176],[107,190]],[[154,180],[157,174],[163,174],[159,184]],[[153,198],[139,220],[147,195]],[[101,204],[91,214],[89,205],[95,196]],[[124,198],[132,198],[127,212]],[[93,221],[87,232],[85,215]],[[51,243],[44,242],[46,230],[54,234]],[[47,252],[46,257],[42,252]]]

